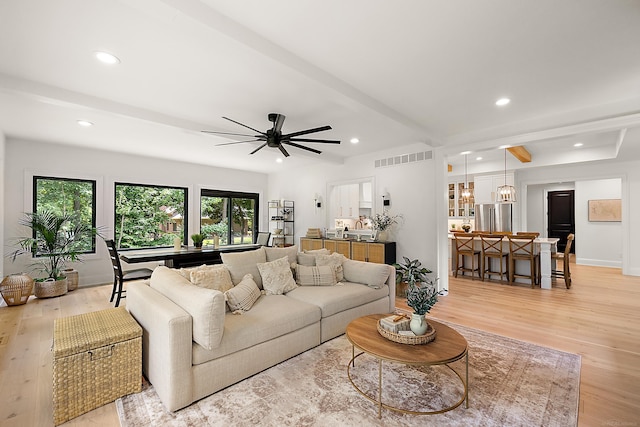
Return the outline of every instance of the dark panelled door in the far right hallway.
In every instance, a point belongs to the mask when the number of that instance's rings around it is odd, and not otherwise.
[[[573,190],[549,191],[547,194],[547,236],[557,237],[558,252],[564,252],[567,236],[575,233],[575,204]],[[571,253],[575,253],[575,241],[571,245]]]

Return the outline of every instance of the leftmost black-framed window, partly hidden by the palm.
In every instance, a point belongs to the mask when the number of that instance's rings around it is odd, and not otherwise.
[[[96,182],[82,179],[33,177],[33,211],[72,214],[75,221],[96,228]],[[95,236],[80,242],[78,252],[95,253]]]

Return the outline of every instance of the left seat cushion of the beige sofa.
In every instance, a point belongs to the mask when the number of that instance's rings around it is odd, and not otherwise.
[[[242,316],[227,314],[220,347],[209,351],[193,344],[193,364],[235,353],[319,321],[320,309],[313,304],[294,301],[285,295],[261,295]],[[317,342],[320,344],[320,336]],[[237,363],[243,363],[242,358]]]

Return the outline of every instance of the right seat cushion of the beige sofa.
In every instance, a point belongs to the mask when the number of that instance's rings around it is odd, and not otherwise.
[[[387,285],[374,289],[360,283],[344,282],[337,286],[299,286],[289,292],[286,297],[317,305],[322,311],[322,317],[325,318],[388,297],[388,295]]]

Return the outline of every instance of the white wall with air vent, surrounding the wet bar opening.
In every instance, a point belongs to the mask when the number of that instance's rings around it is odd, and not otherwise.
[[[299,242],[307,228],[324,228],[327,219],[327,183],[373,177],[374,212],[381,212],[383,189],[390,195],[391,214],[402,214],[404,220],[394,226],[391,240],[396,242],[397,260],[402,256],[419,259],[426,267],[437,271],[437,221],[434,207],[436,190],[434,160],[404,163],[396,166],[376,168],[375,160],[429,148],[424,144],[404,146],[394,150],[349,159],[342,165],[318,164],[304,170],[286,170],[272,174],[269,178],[269,194],[273,198],[294,200],[296,205],[295,234]],[[439,188],[439,187],[438,187]],[[315,212],[313,196],[321,194],[323,207]],[[446,232],[447,225],[442,226]],[[446,271],[438,272],[446,275]]]

